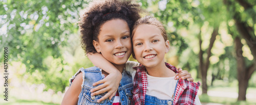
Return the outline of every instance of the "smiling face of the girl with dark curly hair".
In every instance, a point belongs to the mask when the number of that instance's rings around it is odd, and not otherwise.
[[[98,53],[113,64],[125,64],[132,53],[130,28],[124,20],[113,19],[105,22],[93,41]]]

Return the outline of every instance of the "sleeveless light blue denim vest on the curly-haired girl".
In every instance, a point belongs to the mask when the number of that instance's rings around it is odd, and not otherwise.
[[[70,79],[70,86],[72,85],[72,81],[80,72],[82,72],[83,83],[82,90],[79,94],[79,99],[77,104],[113,104],[114,98],[102,100],[100,103],[97,102],[98,99],[103,97],[105,93],[91,96],[90,90],[97,87],[93,86],[93,83],[102,80],[105,76],[101,73],[99,67],[93,66],[90,68],[80,68],[79,71]],[[131,104],[132,100],[132,91],[133,91],[133,80],[131,74],[127,73],[125,69],[122,72],[122,79],[118,87],[120,102],[122,105]]]

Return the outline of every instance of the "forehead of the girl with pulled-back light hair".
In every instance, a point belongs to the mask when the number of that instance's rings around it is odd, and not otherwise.
[[[157,26],[151,24],[141,24],[134,31],[133,39],[140,37],[152,37],[155,35],[162,36],[161,30]]]

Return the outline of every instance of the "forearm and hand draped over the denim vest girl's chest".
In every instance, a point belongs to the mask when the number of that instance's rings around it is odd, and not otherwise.
[[[109,73],[108,76],[106,76],[103,80],[100,80],[93,84],[93,86],[96,86],[98,84],[101,84],[97,86],[96,88],[91,89],[91,92],[93,92],[91,95],[98,95],[101,93],[104,93],[108,91],[103,97],[101,97],[98,102],[106,99],[109,97],[111,99],[119,86],[119,83],[122,79],[122,74],[118,71],[118,69],[108,60],[106,60],[100,53],[89,53],[87,56],[92,63],[95,66],[100,67],[101,69],[104,69],[106,73]]]

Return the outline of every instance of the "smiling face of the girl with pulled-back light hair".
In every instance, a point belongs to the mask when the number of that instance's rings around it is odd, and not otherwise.
[[[161,30],[154,25],[141,24],[134,32],[133,51],[138,62],[145,67],[164,63],[164,54],[169,47],[169,41],[164,41]]]

